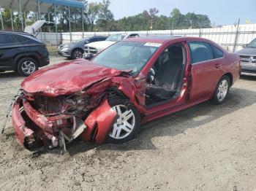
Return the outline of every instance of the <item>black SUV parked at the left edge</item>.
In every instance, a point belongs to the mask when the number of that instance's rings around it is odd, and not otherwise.
[[[36,37],[23,32],[0,31],[0,71],[14,70],[29,76],[49,63],[49,52]]]

